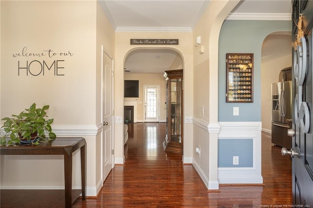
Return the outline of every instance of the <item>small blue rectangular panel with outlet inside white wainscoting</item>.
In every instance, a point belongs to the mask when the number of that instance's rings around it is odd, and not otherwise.
[[[253,139],[219,139],[218,167],[253,167]],[[233,165],[239,156],[239,165]]]

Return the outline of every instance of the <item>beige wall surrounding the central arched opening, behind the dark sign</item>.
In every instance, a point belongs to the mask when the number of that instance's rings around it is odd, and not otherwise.
[[[179,45],[137,46],[130,45],[130,39],[179,39]],[[193,43],[192,32],[116,32],[115,36],[115,162],[124,163],[123,114],[124,114],[124,61],[132,50],[140,48],[166,48],[180,53],[183,60],[184,86],[193,85]],[[184,116],[192,116],[192,87],[184,89]],[[192,125],[184,124],[184,158],[192,157]]]

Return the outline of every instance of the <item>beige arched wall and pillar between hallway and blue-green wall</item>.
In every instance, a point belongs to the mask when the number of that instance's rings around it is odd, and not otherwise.
[[[193,165],[208,189],[218,189],[218,42],[222,23],[239,0],[212,0],[193,31]],[[201,44],[196,47],[196,38]],[[204,53],[199,52],[201,45]],[[203,109],[203,111],[202,111]],[[204,130],[204,131],[203,131]],[[199,147],[201,154],[196,154]]]

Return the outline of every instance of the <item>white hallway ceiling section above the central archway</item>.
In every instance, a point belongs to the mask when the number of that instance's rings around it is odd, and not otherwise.
[[[117,30],[190,30],[207,0],[105,0]],[[108,16],[110,16],[110,14]]]

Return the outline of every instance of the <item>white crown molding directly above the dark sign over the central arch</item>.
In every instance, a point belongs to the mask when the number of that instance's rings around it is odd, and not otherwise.
[[[191,27],[116,27],[115,32],[192,32]]]

